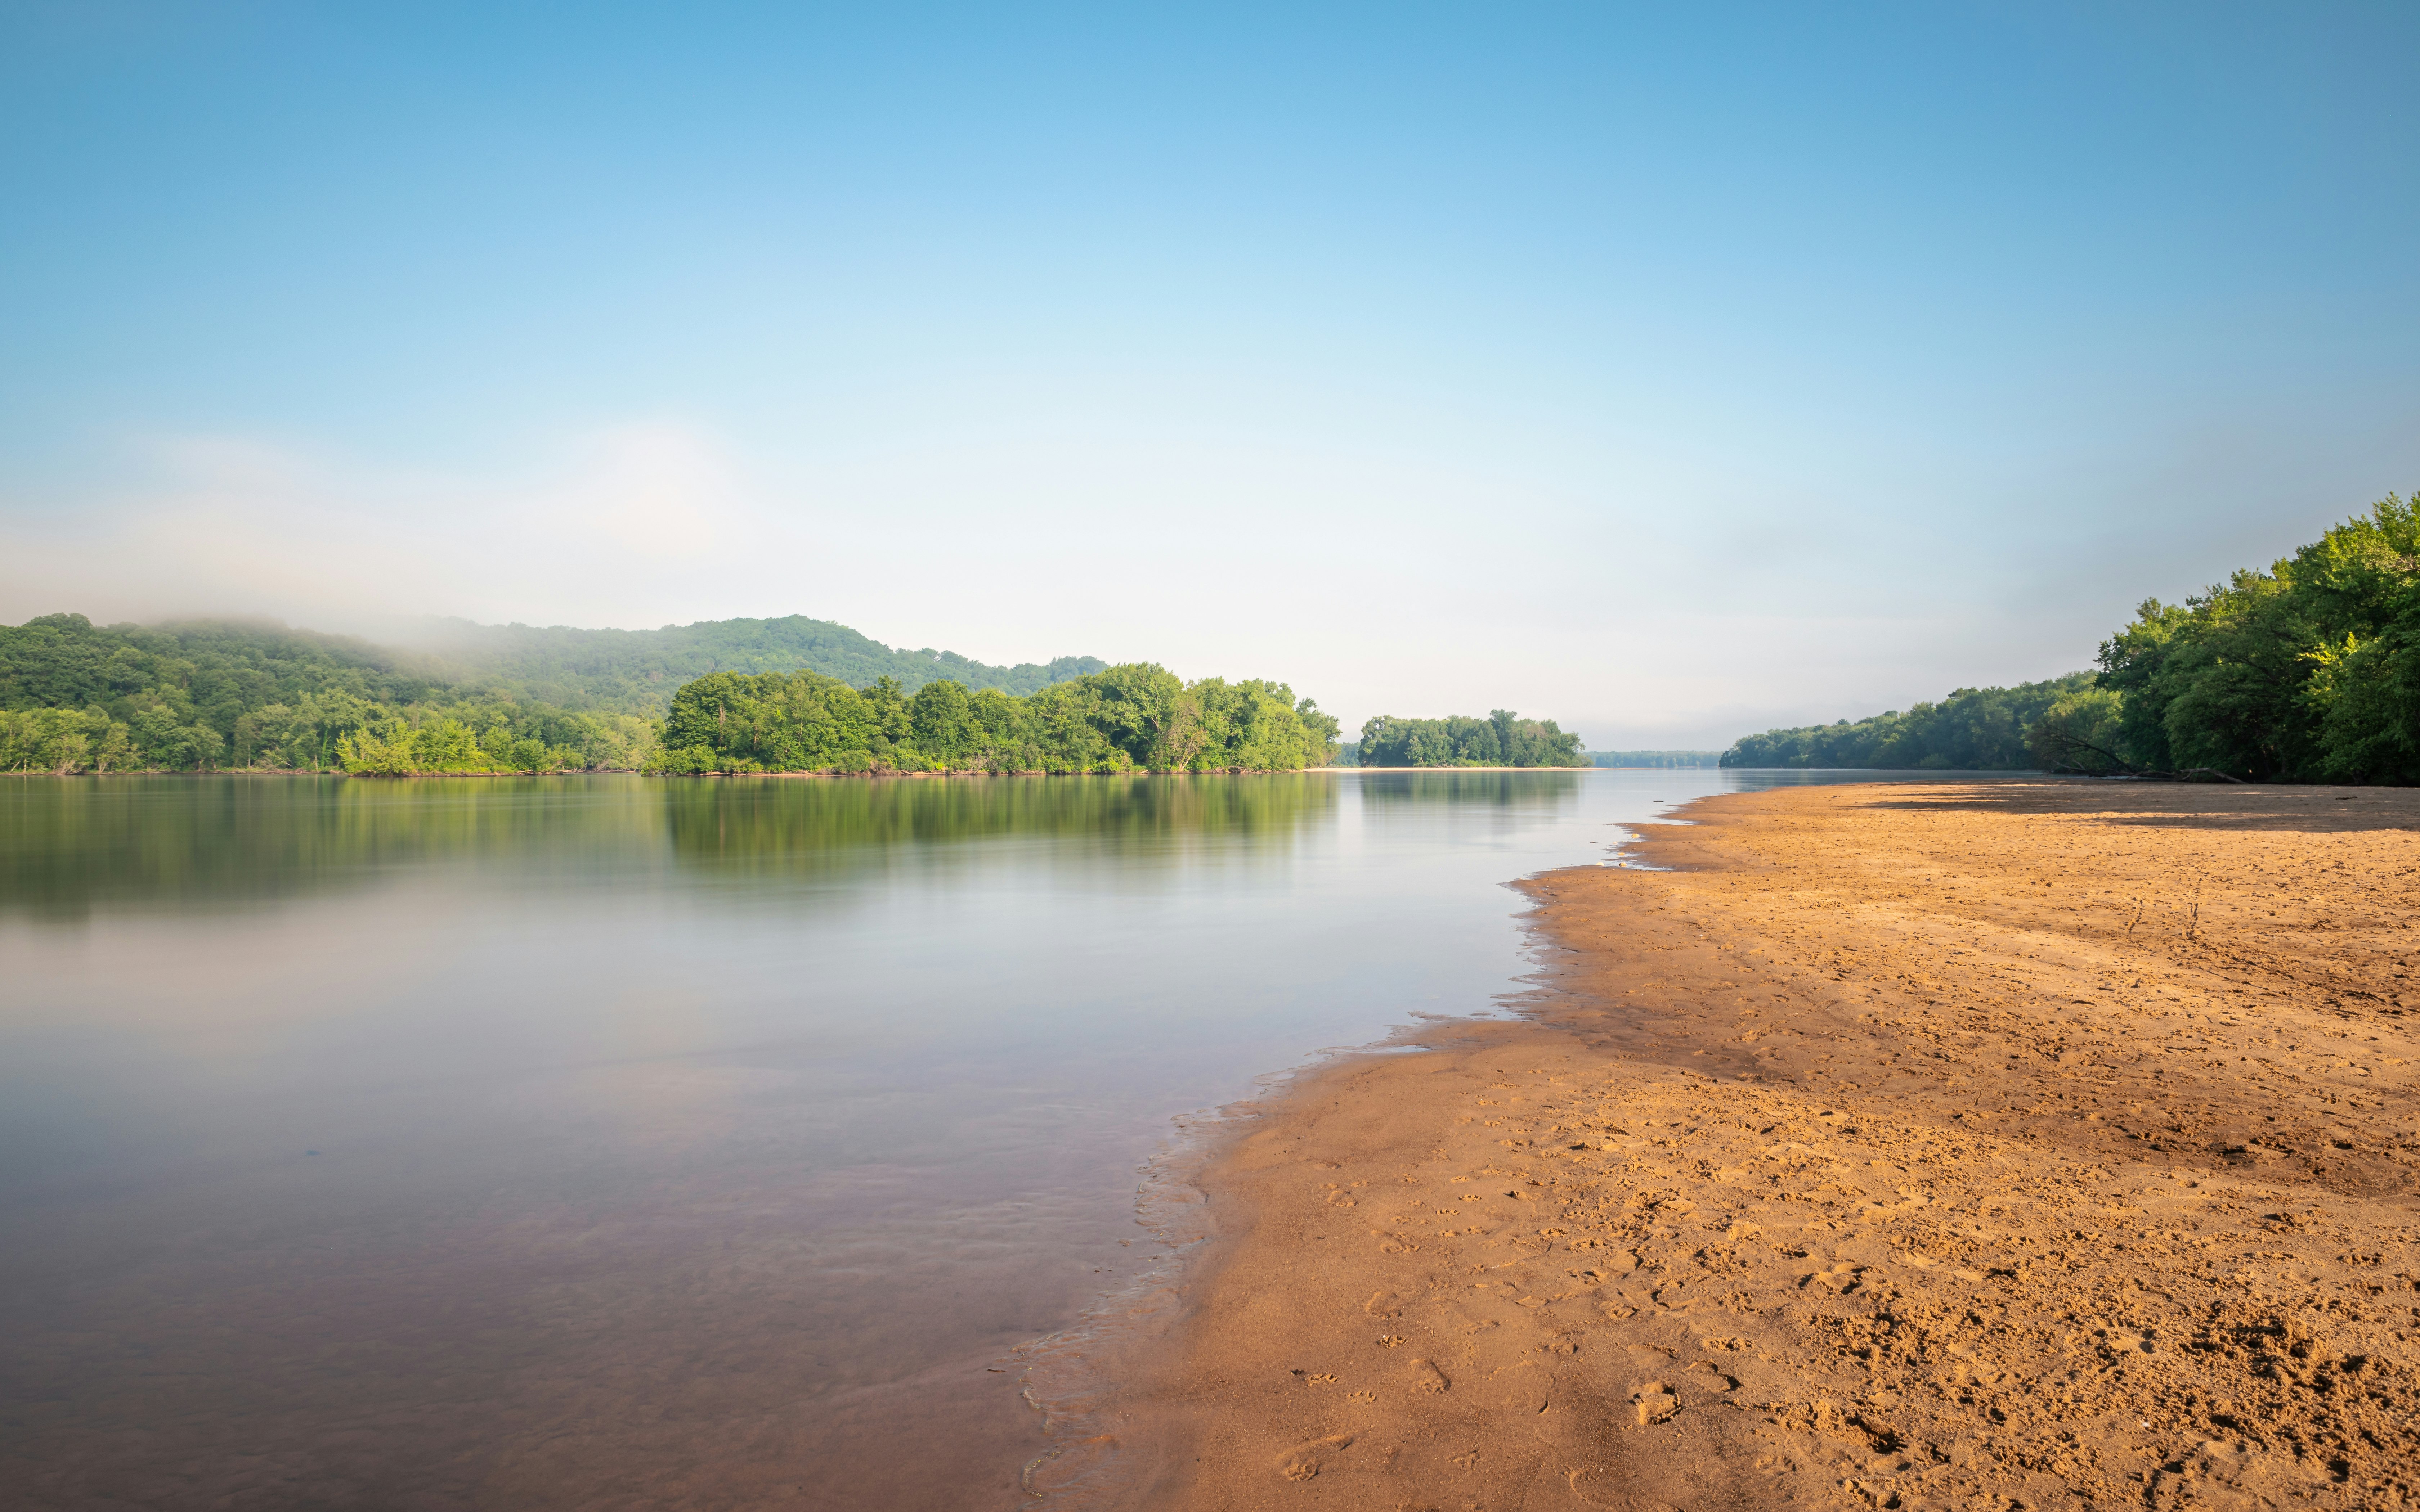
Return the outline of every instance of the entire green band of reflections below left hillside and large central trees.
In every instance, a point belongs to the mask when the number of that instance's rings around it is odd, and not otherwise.
[[[0,777],[0,917],[208,912],[363,888],[424,866],[595,881],[678,861],[830,871],[978,837],[1108,844],[1292,835],[1336,779],[259,779]],[[496,883],[496,876],[486,878]]]

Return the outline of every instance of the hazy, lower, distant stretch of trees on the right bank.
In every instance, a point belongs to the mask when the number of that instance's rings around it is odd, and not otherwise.
[[[2035,764],[2026,733],[2059,699],[2093,687],[2069,673],[2016,687],[1960,687],[1938,704],[1900,714],[1747,735],[1723,752],[1725,767],[1909,767],[2021,772]]]

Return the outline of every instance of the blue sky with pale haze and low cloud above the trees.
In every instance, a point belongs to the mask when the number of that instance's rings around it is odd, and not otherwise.
[[[0,619],[1701,745],[2420,486],[2420,7],[0,7]]]

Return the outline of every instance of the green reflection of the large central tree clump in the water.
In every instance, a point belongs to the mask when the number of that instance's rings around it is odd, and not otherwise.
[[[1292,835],[1333,813],[1336,779],[970,777],[697,779],[663,793],[673,852],[702,866],[849,866],[849,852],[1002,835],[1135,842]]]

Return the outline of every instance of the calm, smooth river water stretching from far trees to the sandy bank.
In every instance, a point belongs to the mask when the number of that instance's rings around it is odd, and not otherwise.
[[[1805,777],[0,781],[0,1481],[1009,1505],[1171,1115]]]

